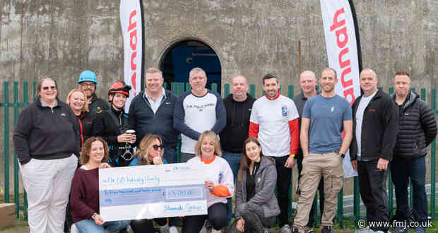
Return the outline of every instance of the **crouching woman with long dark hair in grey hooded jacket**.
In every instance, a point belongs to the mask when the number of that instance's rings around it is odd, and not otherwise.
[[[236,184],[236,221],[229,232],[268,232],[280,213],[274,189],[277,171],[273,159],[263,156],[256,138],[243,144]]]

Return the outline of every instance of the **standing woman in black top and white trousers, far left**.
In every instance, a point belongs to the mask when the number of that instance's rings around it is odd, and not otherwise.
[[[38,81],[36,98],[21,111],[13,133],[28,193],[28,223],[30,232],[63,232],[81,143],[78,121],[58,99],[52,78]]]

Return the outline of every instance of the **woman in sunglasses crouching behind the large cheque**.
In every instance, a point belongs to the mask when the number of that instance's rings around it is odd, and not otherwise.
[[[158,135],[149,134],[142,140],[136,151],[136,157],[129,166],[141,166],[141,165],[162,165],[167,162],[162,158],[162,139]],[[155,232],[153,227],[154,220],[158,224],[160,232],[169,232],[169,226],[167,225],[167,218],[160,217],[154,219],[142,219],[132,220],[131,228],[134,232]]]

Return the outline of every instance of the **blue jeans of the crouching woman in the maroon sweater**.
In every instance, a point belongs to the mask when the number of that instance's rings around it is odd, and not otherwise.
[[[79,233],[105,233],[105,227],[108,232],[119,232],[119,230],[128,227],[130,220],[105,222],[102,226],[97,225],[94,220],[82,220],[76,222]]]

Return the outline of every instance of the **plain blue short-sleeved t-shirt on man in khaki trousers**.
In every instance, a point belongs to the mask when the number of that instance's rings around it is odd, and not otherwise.
[[[310,119],[309,153],[329,153],[342,145],[343,121],[352,120],[351,106],[339,95],[307,100],[302,117]]]

